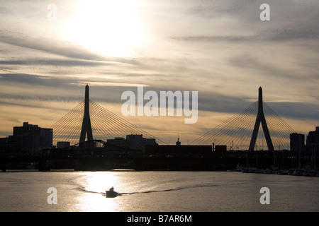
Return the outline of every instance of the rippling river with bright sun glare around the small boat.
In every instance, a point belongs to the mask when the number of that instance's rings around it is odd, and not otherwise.
[[[105,196],[111,186],[120,194],[116,198]],[[264,187],[269,191],[261,193]],[[269,204],[262,204],[262,196]],[[0,211],[319,211],[319,177],[123,170],[1,172]]]

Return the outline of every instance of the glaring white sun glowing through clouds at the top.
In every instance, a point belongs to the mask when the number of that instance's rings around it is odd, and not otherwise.
[[[132,0],[84,0],[65,26],[68,40],[110,57],[130,57],[143,42]]]

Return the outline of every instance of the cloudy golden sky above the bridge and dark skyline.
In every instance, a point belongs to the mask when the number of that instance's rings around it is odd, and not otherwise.
[[[270,20],[261,20],[262,4]],[[167,143],[193,141],[263,88],[298,133],[319,126],[319,1],[0,0],[0,137],[90,99]],[[198,120],[124,117],[125,90],[198,91]]]

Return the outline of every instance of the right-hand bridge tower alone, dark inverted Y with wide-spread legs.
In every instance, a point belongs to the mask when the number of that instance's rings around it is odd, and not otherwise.
[[[250,148],[249,150],[254,150],[254,145],[256,144],[257,134],[259,130],[259,125],[262,123],[262,129],[264,131],[264,136],[266,138],[268,150],[274,150],[274,145],[272,145],[272,138],[269,134],[269,129],[266,123],[266,119],[264,117],[264,109],[262,102],[262,87],[259,87],[258,93],[258,113],[256,122],[254,123],[254,131],[252,132],[252,139],[250,140]]]

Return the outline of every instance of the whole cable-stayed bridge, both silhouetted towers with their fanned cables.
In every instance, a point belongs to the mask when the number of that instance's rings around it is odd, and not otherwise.
[[[108,109],[89,100],[89,86],[86,85],[85,99],[65,114],[51,128],[53,143],[68,141],[72,145],[87,140],[106,141],[128,134],[142,134],[155,138],[147,131],[118,117]],[[289,149],[289,134],[293,129],[274,110],[259,100],[227,119],[216,128],[196,138],[191,145],[227,145],[228,150],[281,150]],[[159,144],[166,144],[155,138]]]

